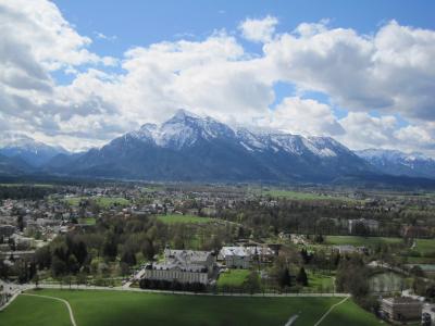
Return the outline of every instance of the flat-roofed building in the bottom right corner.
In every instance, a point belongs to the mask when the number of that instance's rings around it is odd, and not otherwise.
[[[381,310],[390,321],[420,321],[423,304],[408,297],[386,298],[381,301]]]

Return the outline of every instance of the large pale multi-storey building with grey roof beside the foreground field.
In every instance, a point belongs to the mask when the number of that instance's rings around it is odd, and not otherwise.
[[[213,276],[215,256],[210,251],[164,250],[164,261],[148,264],[144,278],[207,285]]]

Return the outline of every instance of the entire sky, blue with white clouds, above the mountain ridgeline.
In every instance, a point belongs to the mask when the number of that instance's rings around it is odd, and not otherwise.
[[[183,108],[435,156],[434,12],[397,0],[0,0],[0,130],[78,151]]]

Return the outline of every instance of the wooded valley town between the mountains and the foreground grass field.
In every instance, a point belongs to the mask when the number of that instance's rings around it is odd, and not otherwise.
[[[2,185],[1,304],[30,288],[346,296],[432,325],[435,196],[321,187]]]

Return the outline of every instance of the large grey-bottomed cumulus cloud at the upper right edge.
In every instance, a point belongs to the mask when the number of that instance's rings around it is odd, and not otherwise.
[[[351,111],[435,120],[435,32],[391,21],[374,36],[301,24],[264,46],[276,75]]]

